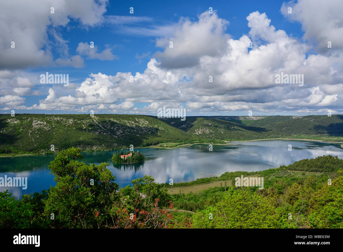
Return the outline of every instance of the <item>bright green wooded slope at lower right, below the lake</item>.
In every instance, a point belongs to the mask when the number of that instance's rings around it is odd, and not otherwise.
[[[306,166],[309,168],[307,172],[294,172],[303,171]],[[220,177],[174,184],[178,187],[210,181],[235,181],[234,178],[241,175],[264,178],[263,190],[256,186],[223,184],[199,193],[180,191],[173,195],[174,207],[196,213],[175,216],[181,223],[190,222],[193,228],[342,228],[342,169],[343,160],[322,156],[300,160],[288,167],[226,172]],[[318,173],[311,173],[312,170]]]

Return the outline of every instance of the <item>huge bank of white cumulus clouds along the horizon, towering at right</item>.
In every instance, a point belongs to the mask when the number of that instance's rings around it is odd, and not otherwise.
[[[320,5],[306,9],[306,18],[300,18],[297,11],[308,3],[303,0],[292,5],[292,19],[303,25],[304,38],[320,40],[319,34],[329,36],[324,26],[310,27],[311,15],[328,25],[336,24],[334,30],[340,32],[337,22],[316,16]],[[281,8],[283,13],[287,6],[285,3]],[[323,11],[333,8],[329,4]],[[206,11],[197,21],[181,18],[173,25],[172,35],[157,38],[156,47],[162,51],[154,54],[143,72],[91,73],[72,93],[61,94],[61,90],[50,88],[46,99],[28,109],[156,114],[159,107],[166,106],[185,107],[188,115],[244,115],[248,110],[254,115],[320,114],[328,109],[343,113],[343,58],[339,46],[334,54],[320,50],[313,54],[310,43],[277,29],[267,13],[258,11],[247,16],[247,26],[248,34],[233,39],[226,33],[228,21],[216,12]],[[170,41],[173,48],[169,47]],[[321,48],[320,41],[318,46]],[[111,52],[103,55],[104,51],[96,48],[91,48],[95,49],[91,53],[89,49],[89,44],[80,43],[77,52],[98,59],[114,56]],[[143,56],[147,55],[137,54],[138,58]],[[275,83],[275,75],[281,73],[304,75],[304,85]],[[1,75],[13,78],[9,72],[2,71]],[[8,95],[21,95],[17,91]]]

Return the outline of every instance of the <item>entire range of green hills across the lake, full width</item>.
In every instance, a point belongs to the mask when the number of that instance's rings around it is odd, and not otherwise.
[[[0,114],[0,154],[49,153],[71,146],[105,150],[161,142],[301,138],[343,141],[343,116]]]

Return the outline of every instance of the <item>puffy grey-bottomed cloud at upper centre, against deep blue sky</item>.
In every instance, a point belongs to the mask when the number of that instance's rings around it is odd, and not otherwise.
[[[172,37],[157,39],[156,46],[164,51],[154,57],[161,60],[161,68],[173,69],[198,65],[202,56],[220,55],[225,51],[228,34],[224,31],[228,23],[207,11],[199,16],[198,22],[181,19]]]

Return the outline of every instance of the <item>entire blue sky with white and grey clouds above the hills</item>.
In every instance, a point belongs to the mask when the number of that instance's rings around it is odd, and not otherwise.
[[[342,114],[342,13],[341,0],[2,1],[0,113]]]

